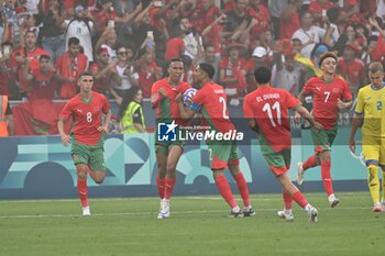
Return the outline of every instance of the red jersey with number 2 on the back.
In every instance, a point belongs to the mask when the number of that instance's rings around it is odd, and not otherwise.
[[[222,86],[215,82],[206,84],[197,91],[193,102],[201,105],[201,113],[211,131],[227,133],[235,130],[229,119],[227,96]]]

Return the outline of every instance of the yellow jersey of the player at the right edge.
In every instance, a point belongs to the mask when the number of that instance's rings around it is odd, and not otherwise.
[[[362,134],[385,137],[385,84],[380,89],[367,85],[360,89],[355,113],[364,114]]]

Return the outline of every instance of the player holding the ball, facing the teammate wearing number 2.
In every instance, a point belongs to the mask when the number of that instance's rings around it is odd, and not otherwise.
[[[175,97],[191,88],[187,82],[182,81],[184,64],[182,59],[175,58],[168,65],[169,76],[156,81],[151,89],[151,104],[156,110],[156,123],[172,125],[180,124],[180,113]],[[155,134],[158,134],[156,124]],[[175,129],[175,127],[174,127]],[[176,165],[183,153],[183,142],[160,141],[155,137],[155,152],[157,162],[156,185],[161,198],[161,209],[157,219],[169,216],[169,200],[176,182]]]

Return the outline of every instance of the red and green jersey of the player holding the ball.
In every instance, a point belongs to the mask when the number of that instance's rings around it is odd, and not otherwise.
[[[168,77],[165,77],[154,82],[151,88],[151,96],[156,94],[161,88],[166,90],[166,96],[155,109],[157,121],[170,122],[175,120],[177,124],[185,125],[186,123],[182,122],[179,107],[175,98],[178,93],[184,93],[187,89],[191,88],[191,86],[185,81],[180,81],[177,87],[173,87],[168,84]]]

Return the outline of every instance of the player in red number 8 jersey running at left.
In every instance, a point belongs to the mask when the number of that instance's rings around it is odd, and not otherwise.
[[[103,156],[103,132],[108,132],[111,110],[103,94],[92,91],[94,77],[84,73],[78,79],[80,93],[72,98],[59,114],[57,129],[62,143],[72,144],[70,154],[77,170],[77,191],[80,198],[82,215],[90,215],[88,205],[87,172],[97,183],[106,177]],[[105,124],[101,123],[106,114]],[[74,120],[72,136],[64,131],[64,122]]]

